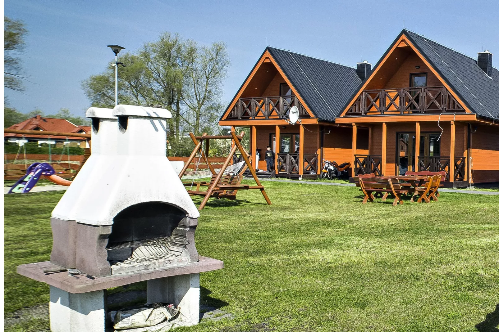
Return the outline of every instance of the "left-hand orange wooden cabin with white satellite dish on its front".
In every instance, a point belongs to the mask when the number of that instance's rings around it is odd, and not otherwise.
[[[317,177],[324,159],[338,164],[352,160],[352,125],[338,125],[334,119],[365,75],[353,67],[267,47],[219,124],[249,128],[253,156],[256,149],[263,155],[270,146],[276,154],[275,176]],[[294,125],[287,120],[292,106],[300,118]],[[358,153],[369,153],[368,134],[357,130]],[[266,169],[264,160],[253,166]]]

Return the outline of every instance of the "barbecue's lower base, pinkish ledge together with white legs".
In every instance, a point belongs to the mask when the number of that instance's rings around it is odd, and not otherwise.
[[[199,273],[219,270],[222,261],[199,256],[199,262],[172,268],[89,278],[69,276],[67,272],[43,273],[56,265],[40,262],[19,265],[17,273],[50,285],[50,329],[52,332],[104,332],[106,327],[106,289],[147,280],[147,302],[173,303],[180,307],[180,316],[161,331],[177,326],[199,323]],[[93,278],[93,279],[92,279]],[[160,328],[158,326],[158,328]],[[135,330],[135,332],[139,332]],[[153,330],[153,327],[149,328]]]

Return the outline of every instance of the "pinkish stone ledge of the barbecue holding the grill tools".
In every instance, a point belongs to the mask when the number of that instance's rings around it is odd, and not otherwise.
[[[178,267],[123,273],[108,277],[95,278],[93,280],[86,277],[86,275],[69,276],[66,271],[49,274],[43,273],[43,270],[54,269],[57,267],[59,266],[51,264],[48,261],[23,264],[17,266],[17,273],[24,277],[57,287],[68,293],[81,294],[129,285],[139,281],[220,270],[224,268],[224,262],[214,258],[199,256],[199,262],[188,263]]]

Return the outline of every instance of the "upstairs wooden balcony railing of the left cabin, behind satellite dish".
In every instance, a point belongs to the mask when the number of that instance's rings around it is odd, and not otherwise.
[[[228,119],[281,119],[289,117],[291,107],[298,108],[300,118],[310,117],[296,96],[241,98]]]

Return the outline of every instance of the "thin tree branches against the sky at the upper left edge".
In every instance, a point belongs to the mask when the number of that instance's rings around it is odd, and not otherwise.
[[[24,22],[3,16],[3,86],[23,91],[21,59],[18,55],[24,50],[24,37],[27,34]]]

